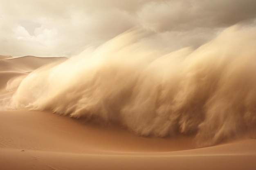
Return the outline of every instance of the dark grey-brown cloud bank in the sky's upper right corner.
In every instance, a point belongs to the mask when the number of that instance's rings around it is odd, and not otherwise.
[[[145,27],[156,31],[227,27],[256,17],[254,0],[183,0],[150,2],[138,12]]]

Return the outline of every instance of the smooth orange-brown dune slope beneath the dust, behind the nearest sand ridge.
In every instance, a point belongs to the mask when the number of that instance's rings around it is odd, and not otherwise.
[[[47,112],[1,111],[0,120],[4,127],[0,146],[4,148],[72,153],[166,152],[195,148],[188,137],[150,139],[115,126],[85,126]]]

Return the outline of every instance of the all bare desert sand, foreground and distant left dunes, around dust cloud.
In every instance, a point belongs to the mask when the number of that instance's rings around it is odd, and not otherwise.
[[[65,58],[0,56],[0,99],[9,80]],[[139,137],[49,112],[0,111],[0,170],[255,170],[256,140],[197,148],[193,136]]]

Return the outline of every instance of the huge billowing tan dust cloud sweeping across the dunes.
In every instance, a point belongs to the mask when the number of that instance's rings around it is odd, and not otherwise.
[[[132,30],[29,74],[12,108],[118,122],[143,136],[197,134],[202,146],[256,128],[256,27],[232,26],[171,53]]]

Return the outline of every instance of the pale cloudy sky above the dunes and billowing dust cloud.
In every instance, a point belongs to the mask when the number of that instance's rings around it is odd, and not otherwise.
[[[0,55],[72,57],[129,29],[169,51],[256,22],[256,0],[0,0]]]

